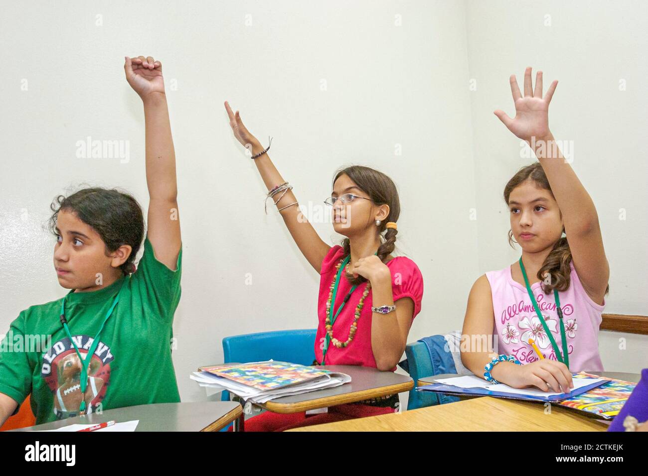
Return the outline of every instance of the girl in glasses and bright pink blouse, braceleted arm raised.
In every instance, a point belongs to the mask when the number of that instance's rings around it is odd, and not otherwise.
[[[364,166],[350,166],[336,174],[326,203],[332,207],[334,230],[347,238],[341,246],[330,247],[301,214],[292,187],[268,157],[270,146],[261,146],[227,102],[225,108],[235,137],[252,153],[269,190],[268,198],[277,206],[301,253],[320,275],[315,363],[395,370],[411,323],[421,311],[423,278],[410,258],[391,255],[400,214],[393,181]],[[393,413],[397,407],[398,394],[394,394],[336,405],[314,416],[265,412],[246,420],[246,431],[283,431]]]

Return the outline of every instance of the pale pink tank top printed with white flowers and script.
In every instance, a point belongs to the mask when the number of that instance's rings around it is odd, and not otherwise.
[[[586,293],[579,280],[573,262],[570,287],[559,292],[565,335],[569,354],[569,368],[572,372],[581,370],[602,372],[603,363],[599,356],[598,333],[601,326],[601,312],[605,308],[597,304]],[[538,319],[529,298],[526,286],[513,280],[511,267],[500,271],[489,271],[486,277],[491,284],[492,307],[495,314],[497,345],[495,352],[515,356],[523,365],[538,360],[538,355],[529,345],[533,339],[540,353],[546,359],[557,360],[551,342]],[[545,294],[541,282],[531,284],[531,291],[538,302],[538,308],[547,323],[558,348],[562,352],[561,328],[553,292]]]

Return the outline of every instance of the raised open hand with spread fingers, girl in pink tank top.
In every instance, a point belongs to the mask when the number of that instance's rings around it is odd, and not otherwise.
[[[515,118],[511,119],[504,111],[498,109],[495,115],[517,137],[530,142],[531,137],[536,141],[550,136],[549,103],[558,81],[553,81],[542,97],[542,71],[535,76],[535,90],[531,85],[531,67],[524,71],[524,97],[520,93],[515,74],[511,75],[511,93],[515,102]]]

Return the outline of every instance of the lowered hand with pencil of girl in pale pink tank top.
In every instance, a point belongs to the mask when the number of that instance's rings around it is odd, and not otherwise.
[[[541,359],[526,365],[511,367],[503,382],[514,389],[537,387],[543,392],[569,393],[573,389],[572,372],[562,362]]]

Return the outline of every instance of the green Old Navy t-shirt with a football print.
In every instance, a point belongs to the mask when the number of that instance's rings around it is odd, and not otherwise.
[[[124,286],[88,368],[87,413],[180,401],[171,341],[181,258],[182,250],[171,271],[156,259],[147,236],[144,255],[130,277],[98,291],[72,290],[62,298],[70,334],[85,358]],[[0,344],[0,392],[18,403],[31,394],[37,424],[76,416],[83,398],[81,362],[60,321],[62,299],[21,312]]]

